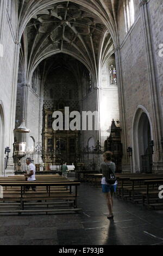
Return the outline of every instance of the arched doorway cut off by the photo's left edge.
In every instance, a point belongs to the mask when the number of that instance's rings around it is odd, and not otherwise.
[[[0,174],[4,170],[4,114],[3,107],[0,104]]]

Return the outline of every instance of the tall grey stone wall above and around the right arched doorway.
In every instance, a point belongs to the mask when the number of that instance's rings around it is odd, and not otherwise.
[[[135,22],[133,26],[126,32],[124,21],[124,9],[123,3],[121,3],[119,9],[119,22],[118,29],[120,34],[120,48],[121,48],[121,63],[122,63],[122,77],[123,77],[123,90],[124,90],[124,102],[126,112],[126,124],[127,124],[127,145],[133,147],[133,154],[138,149],[135,148],[133,137],[133,124],[136,114],[136,110],[142,108],[148,115],[149,122],[151,123],[152,138],[155,136],[154,143],[156,144],[155,130],[155,118],[160,119],[158,113],[154,113],[155,106],[159,106],[159,98],[155,101],[156,95],[152,95],[151,85],[153,84],[151,72],[156,70],[156,81],[153,86],[159,87],[160,97],[162,89],[162,59],[159,57],[159,44],[162,43],[161,19],[162,19],[162,4],[160,1],[149,1],[147,4],[142,5],[143,10],[147,8],[149,11],[149,26],[152,28],[151,42],[146,42],[146,28],[144,23],[148,24],[148,20],[143,20],[143,16],[140,13],[139,1],[134,1],[135,6]],[[161,6],[160,6],[161,4]],[[149,40],[149,37],[148,37]],[[151,52],[149,52],[149,45],[154,45],[153,59]],[[153,49],[153,48],[152,48]],[[153,50],[152,50],[153,51]],[[150,55],[150,57],[149,57]],[[151,61],[152,60],[152,61]],[[154,92],[154,90],[153,90]],[[161,99],[162,104],[162,99]],[[155,116],[154,116],[155,115]],[[139,120],[137,120],[138,122]],[[135,123],[135,126],[137,124]],[[122,131],[123,132],[123,131]],[[160,140],[160,139],[159,139]],[[159,141],[160,143],[160,141]],[[155,147],[154,144],[154,147]],[[155,150],[158,149],[158,144]],[[139,150],[138,150],[139,151]],[[157,151],[158,152],[158,151]],[[136,153],[137,154],[137,153]],[[139,156],[137,156],[139,157]],[[158,153],[154,153],[153,160],[158,159]]]

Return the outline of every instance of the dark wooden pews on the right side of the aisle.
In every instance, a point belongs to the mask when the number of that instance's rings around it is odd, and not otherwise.
[[[163,206],[163,199],[159,198],[163,174],[116,174],[116,178],[118,182],[116,196],[134,203],[141,203],[149,208]],[[82,176],[82,181],[94,187],[101,187],[101,179],[102,174],[99,173],[84,173]]]

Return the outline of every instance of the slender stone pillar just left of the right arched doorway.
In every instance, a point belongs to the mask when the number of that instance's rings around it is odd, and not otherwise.
[[[122,70],[122,58],[121,58],[121,50],[120,47],[117,47],[115,50],[116,56],[116,69],[117,69],[117,85],[118,85],[118,99],[120,106],[120,121],[121,121],[121,141],[122,141],[122,172],[130,172],[130,160],[127,156],[127,148],[130,147],[128,145],[128,136],[127,136],[127,123],[126,123],[126,105],[124,99],[124,88],[123,88],[123,70]]]

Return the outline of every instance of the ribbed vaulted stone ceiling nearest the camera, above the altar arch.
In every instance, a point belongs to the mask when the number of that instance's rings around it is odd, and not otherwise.
[[[62,52],[80,60],[98,83],[103,63],[114,52],[117,0],[22,2],[20,27],[28,17],[21,48],[27,81],[43,59]]]

